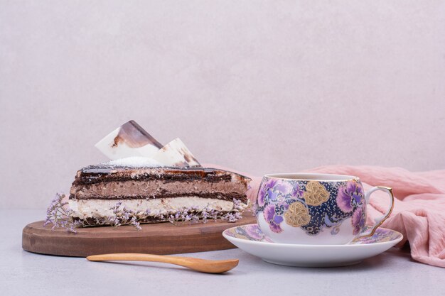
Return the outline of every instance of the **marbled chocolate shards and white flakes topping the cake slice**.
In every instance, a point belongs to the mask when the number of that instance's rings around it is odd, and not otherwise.
[[[109,133],[96,145],[112,162],[109,165],[129,167],[200,166],[186,145],[176,138],[166,146],[147,133],[135,121],[128,121]],[[114,162],[114,160],[116,160]]]

